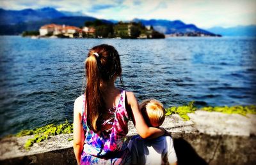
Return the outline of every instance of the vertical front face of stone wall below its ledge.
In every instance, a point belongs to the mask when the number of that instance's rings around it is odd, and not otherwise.
[[[175,133],[179,164],[256,164],[256,137]],[[0,161],[0,164],[76,164],[73,148]]]

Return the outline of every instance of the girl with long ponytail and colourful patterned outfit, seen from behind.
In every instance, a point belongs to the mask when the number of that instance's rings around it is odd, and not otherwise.
[[[86,91],[74,103],[77,164],[130,164],[131,154],[125,143],[129,118],[143,138],[162,136],[165,130],[148,127],[134,94],[115,87],[122,68],[114,47],[93,47],[85,69]]]

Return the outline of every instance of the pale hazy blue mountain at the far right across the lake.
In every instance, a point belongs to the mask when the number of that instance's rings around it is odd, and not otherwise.
[[[222,36],[256,36],[256,25],[239,25],[236,27],[212,27],[208,31]]]

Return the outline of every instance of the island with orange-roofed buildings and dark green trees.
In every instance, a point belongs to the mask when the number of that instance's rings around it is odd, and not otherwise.
[[[164,34],[154,30],[153,26],[145,26],[140,22],[108,24],[101,20],[86,21],[83,27],[47,24],[40,27],[38,32],[24,31],[22,36],[32,36],[32,38],[165,38]]]

